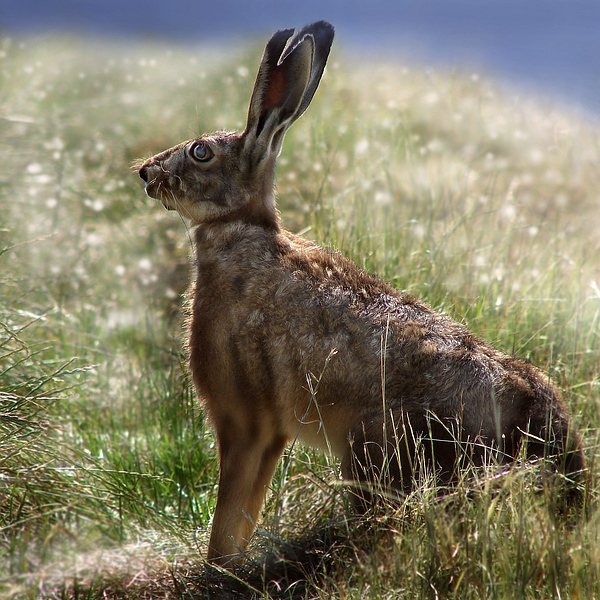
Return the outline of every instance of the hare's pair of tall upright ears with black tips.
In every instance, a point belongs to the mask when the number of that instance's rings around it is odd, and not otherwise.
[[[285,132],[310,104],[334,30],[319,21],[293,33],[284,29],[271,37],[258,70],[244,132],[245,147],[256,162],[279,154]]]

